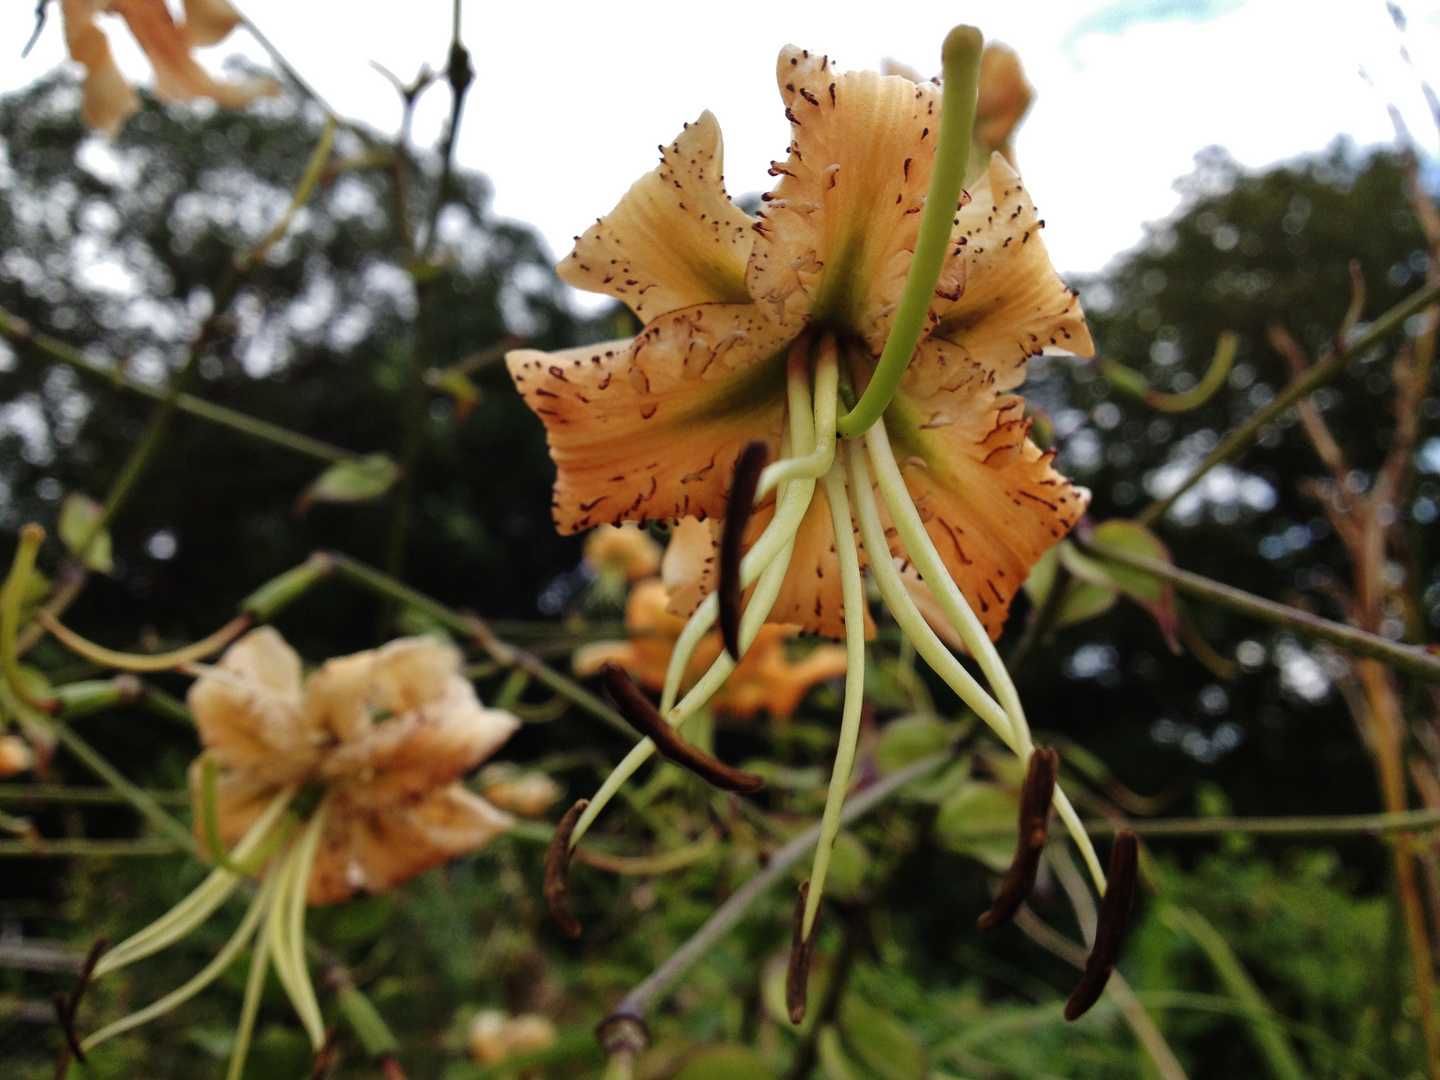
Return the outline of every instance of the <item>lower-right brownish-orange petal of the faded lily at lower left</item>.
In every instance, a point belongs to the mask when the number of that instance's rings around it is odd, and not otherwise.
[[[337,793],[310,876],[307,901],[334,904],[361,888],[384,893],[455,855],[478,851],[513,824],[461,785],[446,785],[409,805],[354,802]]]

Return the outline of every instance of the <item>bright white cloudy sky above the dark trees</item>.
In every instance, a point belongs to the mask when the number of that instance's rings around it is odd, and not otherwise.
[[[393,89],[370,66],[410,78],[444,65],[449,0],[233,0],[341,112],[392,131]],[[1011,0],[1011,3],[769,4],[465,0],[478,76],[459,141],[462,164],[490,174],[497,212],[534,225],[556,256],[657,161],[701,109],[720,120],[732,194],[763,190],[788,128],[775,55],[793,42],[841,68],[886,56],[939,68],[946,30],[978,24],[1015,46],[1035,85],[1017,141],[1061,271],[1092,271],[1176,204],[1172,181],[1208,144],[1263,166],[1320,150],[1346,132],[1388,141],[1387,105],[1421,145],[1437,132],[1420,78],[1440,82],[1440,0],[1407,0],[1397,33],[1382,0]],[[58,4],[52,4],[56,9]],[[33,4],[0,10],[0,91],[63,62],[52,17],[29,59],[16,58]],[[347,16],[334,17],[336,10]],[[148,79],[118,20],[105,20],[127,72]],[[1408,46],[1414,69],[1400,59]],[[262,56],[242,33],[209,50]],[[1361,78],[1368,73],[1371,84]],[[1418,72],[1418,73],[1417,73]],[[422,99],[416,135],[433,138],[448,89]]]

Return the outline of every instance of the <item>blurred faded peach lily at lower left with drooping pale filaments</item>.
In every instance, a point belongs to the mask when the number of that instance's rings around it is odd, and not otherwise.
[[[217,865],[170,913],[105,953],[95,976],[180,940],[249,877],[259,884],[239,929],[199,975],[96,1031],[84,1048],[180,1005],[252,940],[229,1076],[243,1070],[269,965],[312,1044],[323,1045],[305,907],[387,891],[510,825],[458,778],[518,721],[477,701],[459,660],[454,647],[402,638],[302,678],[295,651],[262,626],[200,675],[189,704],[204,753],[190,779],[196,832]]]

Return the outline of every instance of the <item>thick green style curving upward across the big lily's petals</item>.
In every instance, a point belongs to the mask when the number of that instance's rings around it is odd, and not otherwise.
[[[940,132],[935,145],[930,190],[920,213],[920,236],[876,373],[855,408],[840,418],[840,433],[844,436],[864,435],[880,419],[900,389],[900,379],[924,330],[935,284],[940,279],[940,268],[950,246],[965,167],[969,164],[984,46],[985,39],[973,26],[956,26],[945,39]]]

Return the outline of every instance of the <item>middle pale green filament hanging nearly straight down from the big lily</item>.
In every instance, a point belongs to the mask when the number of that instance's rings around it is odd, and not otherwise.
[[[835,556],[840,560],[840,593],[845,605],[845,704],[840,716],[840,744],[835,765],[825,792],[825,812],[819,824],[819,842],[811,865],[811,887],[805,897],[801,920],[801,940],[809,940],[821,897],[825,894],[825,874],[829,852],[840,832],[840,812],[850,791],[850,773],[855,766],[855,744],[860,742],[860,711],[865,701],[865,583],[860,577],[860,552],[855,549],[855,527],[850,517],[850,497],[845,494],[845,468],[835,462],[825,474],[825,498],[829,501],[829,523],[835,536]]]

